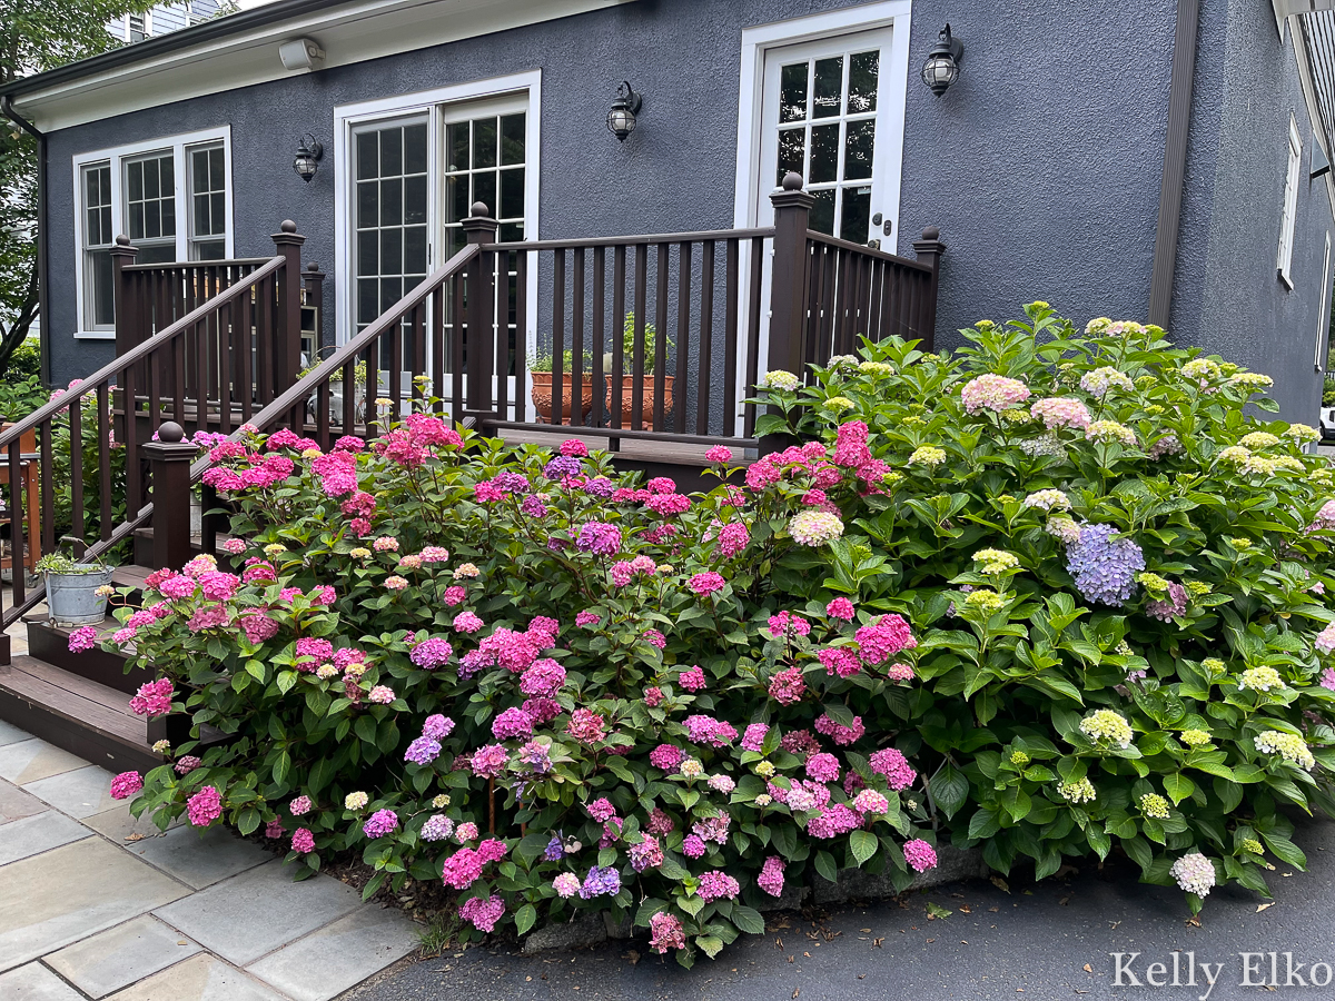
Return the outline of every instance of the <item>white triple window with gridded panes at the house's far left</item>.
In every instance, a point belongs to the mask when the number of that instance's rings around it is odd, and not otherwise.
[[[116,235],[139,250],[138,264],[232,256],[230,145],[223,127],[75,156],[76,336],[113,335]]]

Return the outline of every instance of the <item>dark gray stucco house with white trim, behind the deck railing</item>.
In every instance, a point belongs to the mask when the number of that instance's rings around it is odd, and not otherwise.
[[[343,340],[445,260],[474,200],[502,239],[764,226],[797,168],[813,228],[905,254],[940,227],[941,344],[1035,298],[1148,319],[1272,374],[1312,422],[1328,5],[278,0],[19,80],[0,107],[44,135],[53,382],[113,352],[119,232],[140,262],[238,258],[294,219]],[[965,48],[939,97],[920,71],[945,23]],[[618,143],[623,80],[643,104]]]

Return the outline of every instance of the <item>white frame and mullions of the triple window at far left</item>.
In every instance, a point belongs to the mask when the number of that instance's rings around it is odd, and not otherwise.
[[[176,199],[176,260],[190,259],[190,178],[187,175],[187,149],[196,145],[223,144],[223,168],[227,179],[227,258],[234,258],[232,235],[235,232],[235,215],[232,211],[232,128],[219,125],[216,128],[200,129],[198,132],[184,132],[176,136],[163,136],[139,143],[111,147],[108,149],[95,149],[73,156],[73,188],[75,188],[75,216],[81,220],[84,210],[83,199],[83,168],[97,163],[111,164],[111,231],[116,235],[125,232],[125,167],[124,161],[136,156],[152,152],[172,153],[172,175],[175,182]],[[75,338],[80,340],[115,340],[116,331],[96,327],[88,318],[88,294],[84,287],[84,227],[75,227],[75,283],[79,288],[77,316],[79,328]]]

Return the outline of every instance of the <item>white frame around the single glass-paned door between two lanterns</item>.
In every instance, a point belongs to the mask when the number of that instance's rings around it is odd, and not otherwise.
[[[893,28],[890,47],[881,55],[881,75],[886,81],[886,101],[878,105],[884,112],[884,128],[877,128],[876,170],[884,171],[884,196],[878,199],[876,211],[882,212],[892,223],[893,234],[882,250],[898,254],[900,243],[900,186],[904,168],[904,119],[908,108],[909,88],[909,35],[913,20],[913,0],[880,0],[878,3],[848,7],[826,13],[796,17],[776,24],[762,24],[742,29],[741,83],[737,105],[737,175],[733,187],[733,226],[744,230],[757,224],[760,211],[760,168],[761,145],[764,141],[764,116],[761,101],[765,93],[765,53],[772,48],[785,48],[802,41],[818,41],[838,35],[854,35],[874,28]],[[765,252],[773,254],[770,240],[765,242]],[[740,274],[749,274],[750,243],[741,247],[738,260]],[[761,331],[758,352],[762,359],[757,374],[764,374],[764,359],[769,351],[769,280],[770,268],[764,268],[761,278]],[[745,330],[750,306],[741,303],[740,328]],[[748,346],[745,339],[738,343],[738,371],[745,372]],[[736,400],[725,400],[734,412],[736,432],[742,434],[744,400],[746,392],[740,387]]]

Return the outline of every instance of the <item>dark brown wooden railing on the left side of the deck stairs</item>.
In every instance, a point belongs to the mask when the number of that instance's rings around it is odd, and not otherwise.
[[[292,384],[300,324],[298,251],[303,240],[295,230],[292,223],[283,223],[274,238],[278,254],[272,258],[199,266],[216,275],[226,271],[227,279],[202,279],[207,286],[200,290],[212,295],[199,302],[186,294],[183,284],[178,299],[172,299],[175,292],[164,291],[171,280],[180,280],[180,268],[139,268],[134,266],[135,248],[124,238],[117,240],[112,250],[117,343],[124,340],[129,347],[0,431],[0,484],[8,483],[3,522],[9,529],[12,553],[25,550],[25,534],[33,530],[24,521],[25,463],[39,464],[41,549],[49,553],[56,547],[57,521],[67,519],[63,527],[69,535],[80,547],[88,545],[88,555],[97,555],[150,522],[154,490],[146,452],[154,448],[151,439],[163,422],[231,432],[271,402],[279,387]],[[148,291],[159,298],[150,300]],[[139,338],[146,316],[142,311],[150,304],[154,332]],[[180,310],[186,311],[178,319],[166,322]],[[254,364],[252,358],[258,359]],[[37,454],[25,456],[20,440],[29,431],[37,434]],[[57,475],[69,491],[59,513]],[[188,525],[188,491],[174,502],[184,505]],[[24,575],[16,573],[12,599],[0,611],[4,627],[44,595],[44,586],[29,590],[25,585]]]

